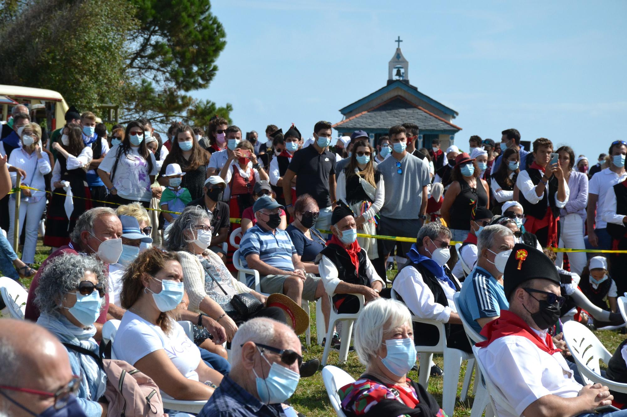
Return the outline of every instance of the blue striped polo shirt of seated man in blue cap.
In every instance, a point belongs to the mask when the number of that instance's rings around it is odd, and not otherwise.
[[[275,233],[261,229],[255,225],[246,231],[240,242],[240,260],[243,267],[248,268],[246,256],[259,255],[259,259],[266,264],[278,269],[293,271],[292,255],[297,253],[290,235],[281,229],[275,229]],[[251,276],[248,278],[248,286],[251,286]]]

